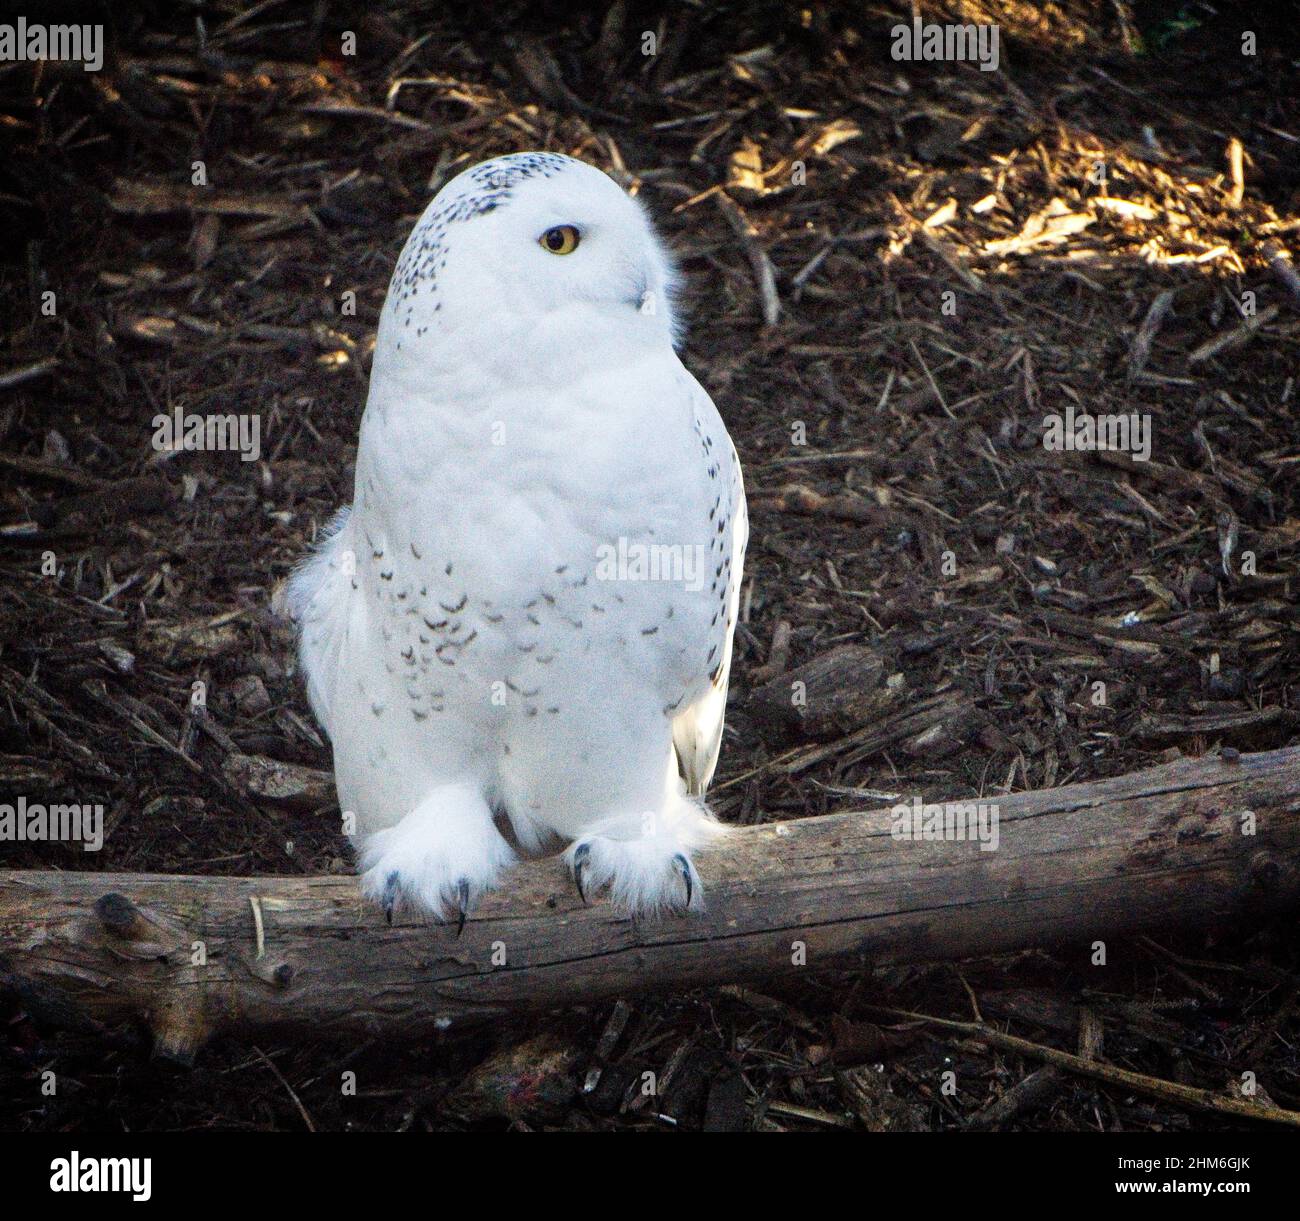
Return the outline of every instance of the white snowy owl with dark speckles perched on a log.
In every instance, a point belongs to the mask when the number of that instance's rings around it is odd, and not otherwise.
[[[447,183],[380,317],[352,505],[294,575],[361,887],[463,927],[567,844],[584,901],[701,904],[745,542],[673,273],[601,170]]]

